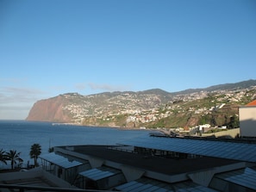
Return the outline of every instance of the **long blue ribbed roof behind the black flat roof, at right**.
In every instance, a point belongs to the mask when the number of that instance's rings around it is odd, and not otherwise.
[[[144,136],[120,143],[167,152],[183,152],[215,158],[256,162],[256,144],[207,139],[184,139]]]

